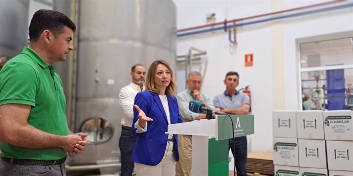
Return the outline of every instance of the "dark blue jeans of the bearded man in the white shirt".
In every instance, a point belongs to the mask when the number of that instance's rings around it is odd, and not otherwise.
[[[134,162],[131,161],[131,153],[133,153],[136,137],[131,130],[121,129],[119,139],[121,176],[131,176],[134,172]]]

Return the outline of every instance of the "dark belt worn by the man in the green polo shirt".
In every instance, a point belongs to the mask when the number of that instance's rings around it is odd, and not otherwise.
[[[10,164],[18,164],[18,165],[40,165],[40,166],[48,166],[48,165],[56,165],[62,164],[66,161],[66,157],[60,160],[27,160],[27,159],[14,159],[14,158],[1,158],[2,160],[10,163]]]

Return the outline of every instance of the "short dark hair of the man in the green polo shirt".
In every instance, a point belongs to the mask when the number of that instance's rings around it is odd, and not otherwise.
[[[49,30],[54,35],[62,33],[64,27],[76,31],[76,25],[66,15],[54,10],[38,10],[34,13],[29,27],[30,41],[37,41],[44,30]]]

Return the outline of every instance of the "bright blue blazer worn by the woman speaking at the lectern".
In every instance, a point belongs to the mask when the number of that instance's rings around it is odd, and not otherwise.
[[[179,114],[178,102],[175,96],[167,95],[170,112],[170,122],[182,123]],[[131,160],[137,163],[155,166],[164,156],[167,145],[168,120],[159,95],[150,91],[139,92],[135,97],[135,103],[153,121],[147,122],[147,131],[136,133],[135,123],[139,119],[139,113],[134,108],[134,121],[131,130],[137,137]],[[178,136],[174,136],[173,153],[176,161],[179,161]]]

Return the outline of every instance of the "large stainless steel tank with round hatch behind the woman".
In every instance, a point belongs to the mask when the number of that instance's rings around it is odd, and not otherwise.
[[[120,163],[119,91],[133,64],[166,60],[175,70],[176,8],[172,1],[79,1],[75,131],[90,134],[71,165]]]

